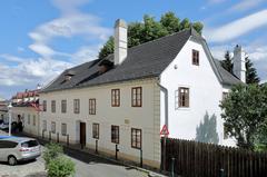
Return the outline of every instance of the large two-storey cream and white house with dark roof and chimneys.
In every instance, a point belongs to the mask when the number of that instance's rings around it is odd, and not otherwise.
[[[137,47],[127,47],[127,24],[117,20],[115,53],[67,69],[40,92],[41,131],[56,139],[159,168],[160,129],[169,137],[196,139],[206,114],[224,137],[219,104],[228,89],[245,81],[245,58],[235,49],[235,73],[212,58],[194,29]],[[142,151],[140,151],[142,150]]]

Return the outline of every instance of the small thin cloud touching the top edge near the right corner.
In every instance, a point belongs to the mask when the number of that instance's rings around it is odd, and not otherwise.
[[[254,7],[257,7],[258,4],[260,4],[261,2],[264,2],[264,0],[243,0],[239,3],[235,4],[234,7],[231,7],[229,9],[230,12],[237,11],[245,11],[248,9],[251,9]]]

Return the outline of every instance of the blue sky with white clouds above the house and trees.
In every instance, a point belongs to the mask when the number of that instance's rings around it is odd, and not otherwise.
[[[160,19],[172,11],[201,21],[212,55],[241,45],[267,81],[266,0],[1,0],[0,97],[47,85],[62,70],[97,58],[116,19]]]

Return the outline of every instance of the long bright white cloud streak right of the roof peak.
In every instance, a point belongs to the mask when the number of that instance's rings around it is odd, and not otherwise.
[[[267,10],[253,13],[219,28],[207,28],[204,33],[210,42],[225,42],[267,24]]]

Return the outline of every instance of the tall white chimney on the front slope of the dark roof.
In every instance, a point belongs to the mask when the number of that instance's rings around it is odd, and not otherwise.
[[[120,65],[127,57],[127,23],[118,19],[115,23],[115,65]]]

